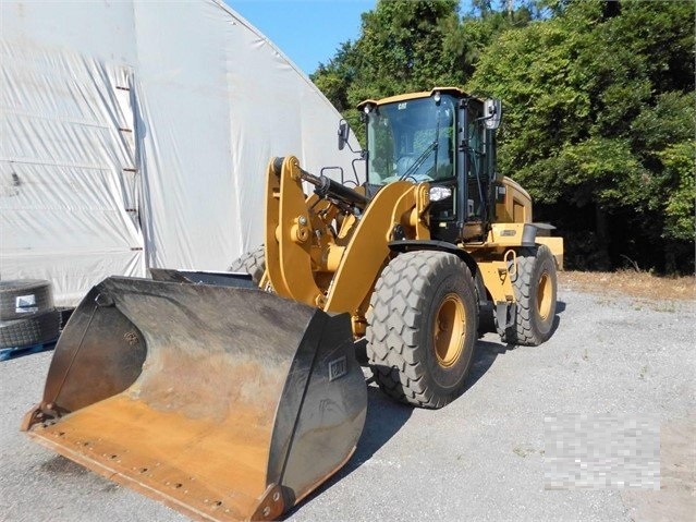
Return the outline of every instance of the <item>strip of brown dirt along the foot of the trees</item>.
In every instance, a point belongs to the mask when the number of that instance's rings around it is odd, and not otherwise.
[[[696,277],[659,277],[648,272],[562,271],[562,288],[602,295],[627,295],[658,301],[696,300]]]

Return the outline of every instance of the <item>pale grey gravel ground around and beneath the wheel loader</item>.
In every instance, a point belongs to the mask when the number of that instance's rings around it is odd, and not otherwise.
[[[555,333],[538,348],[511,349],[492,335],[479,340],[468,390],[442,410],[395,404],[370,385],[355,456],[288,520],[696,520],[694,302],[561,286],[558,317]],[[0,520],[188,520],[19,432],[40,399],[50,359],[0,363]],[[545,417],[647,426],[659,437],[659,489],[655,482],[546,488],[553,440]]]

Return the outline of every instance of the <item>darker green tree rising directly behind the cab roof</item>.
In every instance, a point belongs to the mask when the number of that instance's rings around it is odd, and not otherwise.
[[[490,3],[478,2],[461,17],[459,0],[380,0],[363,14],[359,38],[344,43],[312,80],[359,137],[357,104],[438,85],[462,86],[498,34],[533,17],[527,5],[509,15]]]

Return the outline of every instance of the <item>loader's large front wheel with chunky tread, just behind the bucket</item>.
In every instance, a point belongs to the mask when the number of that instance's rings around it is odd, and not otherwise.
[[[392,259],[367,313],[367,355],[391,398],[422,408],[464,390],[478,329],[476,289],[456,255],[420,251]]]

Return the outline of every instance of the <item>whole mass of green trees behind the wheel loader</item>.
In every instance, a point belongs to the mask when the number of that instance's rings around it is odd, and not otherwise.
[[[358,136],[364,99],[501,98],[499,170],[569,267],[693,272],[695,16],[691,0],[380,0],[312,78]]]

